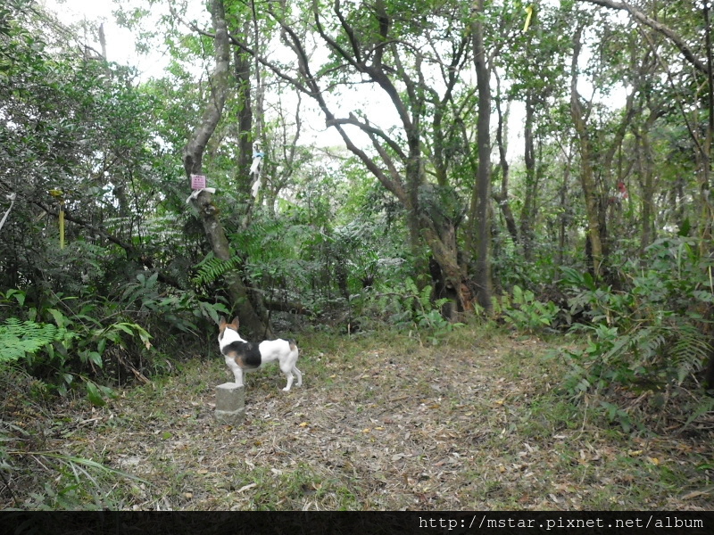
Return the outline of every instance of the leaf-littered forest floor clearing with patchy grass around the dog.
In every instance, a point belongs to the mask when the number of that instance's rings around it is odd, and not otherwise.
[[[679,432],[683,421],[660,417],[657,432],[633,414],[624,432],[596,399],[559,391],[563,343],[472,327],[437,346],[312,335],[301,340],[303,386],[282,391],[277,367],[249,374],[235,426],[214,417],[215,386],[232,377],[216,351],[105,407],[54,407],[44,446],[65,470],[34,493],[0,493],[0,507],[710,509],[711,420]],[[643,398],[625,396],[633,407]]]

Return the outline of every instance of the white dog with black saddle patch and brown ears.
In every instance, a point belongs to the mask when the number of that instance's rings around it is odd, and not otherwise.
[[[295,340],[266,340],[265,342],[245,342],[238,334],[238,318],[226,323],[221,317],[218,324],[218,344],[220,353],[226,358],[226,366],[233,372],[238,386],[243,386],[243,372],[252,372],[278,361],[280,370],[287,378],[283,391],[289,391],[297,375],[297,386],[303,384],[303,374],[297,369],[297,342]]]

